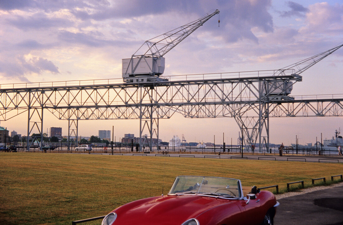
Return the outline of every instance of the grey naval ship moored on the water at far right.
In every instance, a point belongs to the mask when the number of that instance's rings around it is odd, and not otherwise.
[[[324,139],[323,140],[323,150],[330,150],[330,151],[338,151],[338,146],[343,147],[343,138],[339,135],[340,131],[335,131],[335,137],[332,136],[331,139]],[[291,144],[291,146],[295,149],[296,144]],[[307,145],[298,145],[298,148],[305,148],[305,149],[320,149],[320,142],[317,142],[317,145],[313,145],[312,143],[308,143]]]

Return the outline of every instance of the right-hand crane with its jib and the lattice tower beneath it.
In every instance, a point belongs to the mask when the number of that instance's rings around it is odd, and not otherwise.
[[[300,74],[342,46],[342,44],[335,46],[327,51],[275,70],[271,76],[258,74],[257,77],[241,79],[241,83],[245,83],[245,85],[241,87],[240,93],[247,93],[246,97],[249,96],[250,100],[241,101],[239,103],[240,107],[233,109],[231,116],[235,118],[241,128],[243,145],[247,149],[251,148],[253,150],[252,146],[256,145],[257,139],[259,139],[260,148],[262,142],[265,143],[267,149],[269,148],[269,114],[274,110],[292,111],[280,107],[282,103],[294,100],[294,97],[289,96],[289,94],[292,91],[293,84],[302,81]],[[258,72],[267,73],[267,71]],[[294,115],[294,112],[288,116],[292,115]],[[265,132],[264,137],[262,136],[263,131]]]

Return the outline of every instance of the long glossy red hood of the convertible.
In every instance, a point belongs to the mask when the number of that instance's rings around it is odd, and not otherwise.
[[[189,218],[222,204],[232,204],[237,200],[216,199],[199,195],[160,196],[122,205],[117,213],[115,224],[182,224]]]

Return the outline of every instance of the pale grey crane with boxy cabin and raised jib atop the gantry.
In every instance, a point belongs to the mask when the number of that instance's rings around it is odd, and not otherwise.
[[[163,55],[218,13],[219,10],[211,10],[196,21],[145,41],[130,59],[122,59],[122,77],[124,82],[168,81],[166,78],[159,77],[163,74],[165,68],[165,58]]]

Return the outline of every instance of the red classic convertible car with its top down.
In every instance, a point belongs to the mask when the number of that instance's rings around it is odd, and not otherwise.
[[[273,224],[277,205],[273,193],[246,190],[237,179],[177,176],[167,196],[122,205],[102,225]]]

